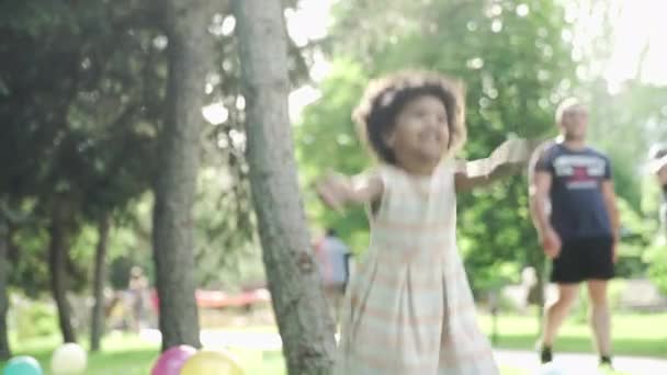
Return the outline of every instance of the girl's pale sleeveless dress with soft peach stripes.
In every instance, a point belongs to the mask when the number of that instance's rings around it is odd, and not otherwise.
[[[346,296],[335,374],[498,374],[456,249],[454,169],[381,167],[384,194]]]

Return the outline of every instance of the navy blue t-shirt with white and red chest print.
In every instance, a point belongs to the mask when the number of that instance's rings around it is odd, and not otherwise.
[[[535,170],[552,175],[551,224],[564,241],[612,236],[601,188],[611,180],[609,158],[555,143],[543,150]]]

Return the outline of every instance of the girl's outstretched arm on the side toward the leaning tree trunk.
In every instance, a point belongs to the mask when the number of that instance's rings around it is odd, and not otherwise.
[[[317,182],[316,189],[327,206],[342,211],[343,206],[350,203],[364,204],[378,201],[384,184],[376,172],[352,178],[331,172]]]

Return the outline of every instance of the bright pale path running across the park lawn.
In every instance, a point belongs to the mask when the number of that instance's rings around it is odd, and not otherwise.
[[[158,330],[143,330],[146,340],[160,342]],[[201,333],[202,344],[208,348],[235,346],[263,351],[282,348],[280,336],[274,332],[248,332],[206,329]],[[522,368],[527,374],[539,374],[538,355],[530,351],[495,350],[496,360],[502,366]],[[554,365],[564,375],[597,375],[598,359],[589,353],[555,353]],[[648,357],[614,356],[614,368],[629,375],[667,375],[667,361]]]

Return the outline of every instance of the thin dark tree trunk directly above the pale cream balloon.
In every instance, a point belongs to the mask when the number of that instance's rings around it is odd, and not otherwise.
[[[48,248],[50,287],[58,308],[58,323],[63,333],[63,341],[77,342],[75,329],[71,325],[71,307],[67,300],[68,224],[63,208],[63,204],[56,202],[52,213]]]

